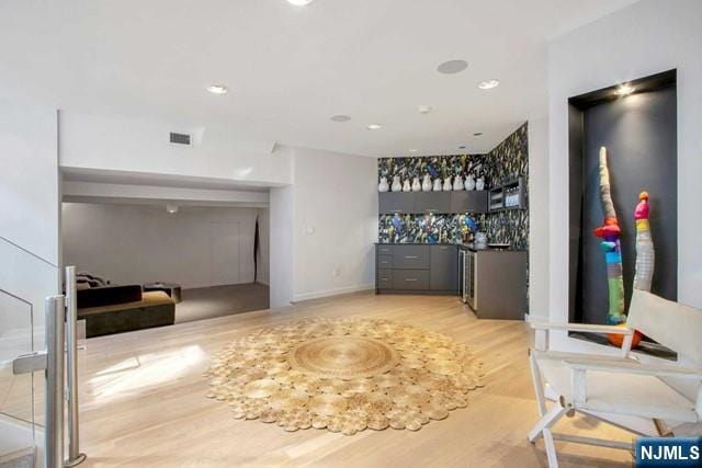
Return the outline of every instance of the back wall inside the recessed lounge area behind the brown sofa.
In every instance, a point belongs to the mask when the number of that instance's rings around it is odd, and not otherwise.
[[[251,283],[258,214],[256,208],[181,207],[169,214],[165,206],[65,203],[64,262],[115,284]],[[217,247],[225,233],[233,239]],[[261,263],[268,263],[268,250],[261,253]],[[223,259],[226,276],[217,271]]]

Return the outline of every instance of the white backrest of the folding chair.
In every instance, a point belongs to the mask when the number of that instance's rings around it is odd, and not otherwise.
[[[626,324],[702,366],[702,310],[634,289]]]

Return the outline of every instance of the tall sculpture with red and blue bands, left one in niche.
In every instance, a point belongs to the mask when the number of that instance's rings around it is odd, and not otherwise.
[[[622,275],[622,248],[616,212],[610,189],[610,171],[607,165],[607,148],[600,148],[600,202],[604,213],[603,226],[595,229],[595,236],[602,239],[600,247],[604,251],[607,263],[607,284],[609,292],[609,310],[607,322],[619,324],[626,321],[624,315],[624,276]]]

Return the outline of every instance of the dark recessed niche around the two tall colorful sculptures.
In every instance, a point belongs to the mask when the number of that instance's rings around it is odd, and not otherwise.
[[[608,286],[600,239],[599,149],[608,148],[612,198],[622,228],[625,304],[632,295],[638,193],[647,191],[656,249],[652,292],[677,299],[678,180],[676,70],[626,81],[568,100],[569,138],[569,319],[604,323]]]

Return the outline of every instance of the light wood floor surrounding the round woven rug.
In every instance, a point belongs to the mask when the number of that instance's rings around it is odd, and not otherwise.
[[[205,398],[208,356],[262,326],[304,317],[387,318],[467,343],[485,362],[485,388],[466,409],[419,432],[364,431],[354,436],[286,433],[238,421]],[[455,297],[358,294],[161,329],[91,339],[81,357],[83,466],[107,467],[530,467],[545,466],[542,443],[526,432],[536,419],[523,322],[477,320]],[[564,432],[629,441],[626,433],[574,418]],[[563,466],[631,466],[624,452],[559,444]]]

